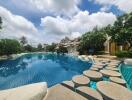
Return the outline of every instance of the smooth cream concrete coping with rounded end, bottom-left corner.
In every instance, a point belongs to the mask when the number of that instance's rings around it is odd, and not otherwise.
[[[47,94],[45,82],[0,91],[0,100],[42,100]]]

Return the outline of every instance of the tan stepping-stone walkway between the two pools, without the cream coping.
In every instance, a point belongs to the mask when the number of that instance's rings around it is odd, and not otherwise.
[[[85,59],[85,56],[82,58]],[[49,88],[43,100],[131,100],[132,91],[126,87],[126,82],[121,77],[119,63],[115,57],[95,58],[95,64],[80,76],[88,79],[74,76],[72,80]],[[101,80],[101,76],[107,77],[109,81]],[[89,86],[89,80],[97,82],[96,89]]]

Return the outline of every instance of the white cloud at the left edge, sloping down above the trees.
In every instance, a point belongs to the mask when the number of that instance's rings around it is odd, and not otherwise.
[[[14,15],[6,8],[0,6],[0,16],[2,17],[3,29],[1,38],[20,38],[26,36],[30,42],[35,39],[37,28],[32,22],[22,16]]]

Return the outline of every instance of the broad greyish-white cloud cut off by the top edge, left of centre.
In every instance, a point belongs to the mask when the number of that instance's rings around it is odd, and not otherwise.
[[[55,15],[71,16],[79,11],[81,0],[13,0],[14,4],[21,3],[22,8],[40,10]]]

